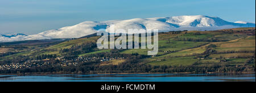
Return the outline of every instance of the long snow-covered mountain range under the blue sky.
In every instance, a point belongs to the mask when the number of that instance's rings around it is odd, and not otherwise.
[[[215,30],[237,27],[255,27],[255,23],[247,22],[227,22],[218,17],[204,15],[184,15],[166,18],[135,18],[128,20],[109,20],[103,22],[86,21],[75,26],[52,29],[36,35],[0,35],[0,42],[20,41],[20,40],[39,40],[56,38],[78,38],[96,33],[98,29],[109,31],[111,24],[115,29],[159,29],[160,32],[177,30]]]

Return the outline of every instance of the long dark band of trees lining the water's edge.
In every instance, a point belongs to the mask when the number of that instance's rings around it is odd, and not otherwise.
[[[255,65],[229,66],[225,62],[192,66],[151,66],[138,64],[136,57],[119,65],[98,65],[93,62],[79,66],[32,67],[19,70],[1,70],[0,73],[240,73],[255,71]],[[254,62],[255,64],[255,62]]]

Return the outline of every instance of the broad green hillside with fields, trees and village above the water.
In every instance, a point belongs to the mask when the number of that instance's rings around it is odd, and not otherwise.
[[[36,68],[31,68],[38,70],[29,72],[38,72],[41,67],[56,66],[55,70],[52,68],[53,71],[60,73],[255,71],[254,27],[161,32],[159,52],[153,57],[147,56],[147,49],[99,50],[96,46],[98,38],[99,36],[85,37],[48,46],[2,45],[0,64],[35,63]],[[49,64],[40,65],[47,62]]]

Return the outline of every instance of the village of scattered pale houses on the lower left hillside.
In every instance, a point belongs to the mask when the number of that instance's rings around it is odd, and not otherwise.
[[[0,70],[10,70],[10,69],[26,69],[31,67],[44,67],[44,66],[77,66],[79,64],[85,63],[85,62],[106,62],[111,60],[123,60],[126,57],[91,57],[91,58],[85,58],[85,57],[77,57],[72,60],[67,60],[64,57],[56,57],[54,59],[44,59],[44,60],[29,60],[23,63],[11,63],[11,64],[5,64],[0,65]],[[54,60],[54,61],[51,61]]]

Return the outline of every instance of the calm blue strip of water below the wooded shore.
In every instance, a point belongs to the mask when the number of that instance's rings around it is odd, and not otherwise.
[[[31,74],[0,75],[0,82],[255,82],[250,74]]]

